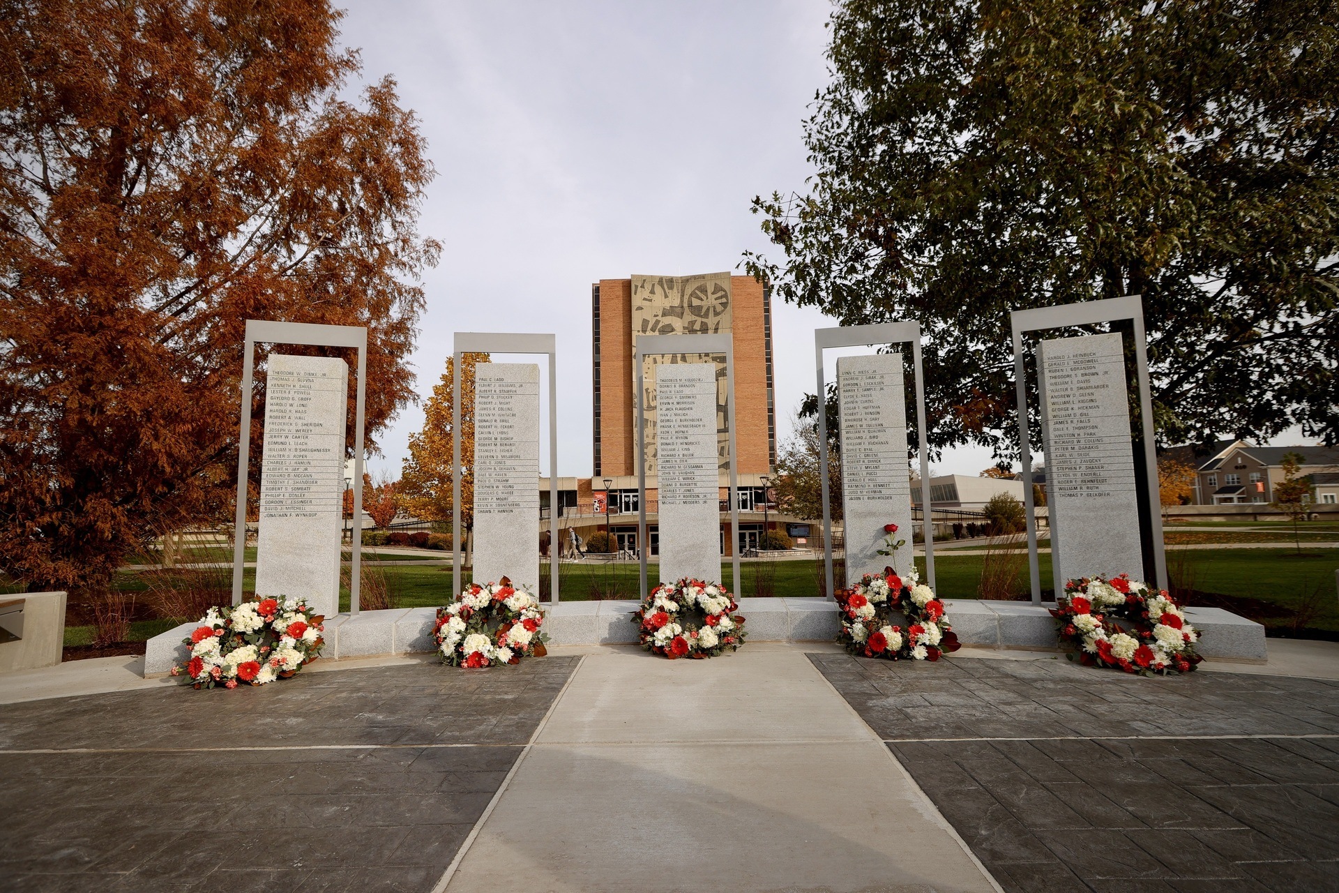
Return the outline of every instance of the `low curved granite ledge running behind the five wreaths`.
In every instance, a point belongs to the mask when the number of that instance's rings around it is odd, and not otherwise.
[[[1047,608],[1028,601],[945,598],[949,621],[964,645],[1055,649],[1055,621]],[[636,601],[564,601],[545,605],[544,629],[553,645],[613,645],[637,640],[631,623]],[[740,598],[750,641],[832,641],[837,637],[837,604],[828,598]],[[1186,608],[1201,631],[1200,653],[1220,660],[1264,661],[1264,627],[1221,608]],[[374,657],[426,653],[434,649],[435,608],[363,611],[325,621],[323,657]],[[182,639],[195,624],[149,640],[145,676],[163,676],[187,656]]]

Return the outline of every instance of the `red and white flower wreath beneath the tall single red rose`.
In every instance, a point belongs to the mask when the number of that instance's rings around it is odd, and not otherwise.
[[[892,568],[882,576],[866,573],[860,582],[836,593],[841,608],[837,641],[853,655],[884,660],[939,660],[961,645],[944,613],[944,602],[920,582],[916,570],[898,577]],[[907,629],[894,624],[907,619]]]

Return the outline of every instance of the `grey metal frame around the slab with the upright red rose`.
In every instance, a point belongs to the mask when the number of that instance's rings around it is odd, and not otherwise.
[[[818,375],[818,471],[823,499],[823,573],[828,593],[834,592],[833,578],[833,514],[829,505],[828,486],[828,382],[823,376],[823,351],[836,347],[870,347],[874,344],[900,344],[911,341],[912,360],[916,366],[916,431],[920,440],[921,466],[921,529],[925,533],[925,577],[929,588],[935,588],[935,525],[933,509],[929,501],[929,459],[925,449],[925,368],[920,351],[920,323],[874,323],[873,325],[838,325],[814,329],[814,366]],[[916,560],[915,537],[912,537],[912,566]]]

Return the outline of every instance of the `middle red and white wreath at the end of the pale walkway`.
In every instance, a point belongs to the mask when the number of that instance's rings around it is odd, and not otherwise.
[[[653,655],[715,657],[744,644],[744,619],[735,611],[739,602],[720,584],[684,577],[656,586],[632,623],[641,647]]]

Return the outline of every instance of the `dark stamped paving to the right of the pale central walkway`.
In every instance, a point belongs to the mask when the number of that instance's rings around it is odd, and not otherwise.
[[[1008,890],[1339,890],[1339,683],[810,659]]]

